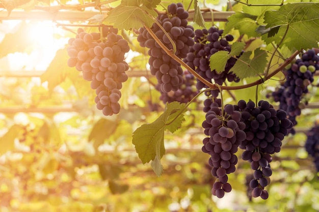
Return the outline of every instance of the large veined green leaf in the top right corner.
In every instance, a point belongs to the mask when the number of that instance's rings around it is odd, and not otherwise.
[[[265,42],[281,42],[290,50],[309,49],[318,46],[319,3],[286,4],[278,11],[267,11],[264,14],[265,28],[276,29],[271,36],[263,35]],[[286,35],[285,35],[286,33]]]

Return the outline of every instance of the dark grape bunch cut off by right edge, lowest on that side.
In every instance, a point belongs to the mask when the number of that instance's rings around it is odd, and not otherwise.
[[[317,123],[307,133],[305,148],[313,158],[315,168],[319,172],[319,125]]]

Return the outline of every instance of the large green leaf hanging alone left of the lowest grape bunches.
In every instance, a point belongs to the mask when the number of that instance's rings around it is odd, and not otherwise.
[[[183,112],[185,104],[178,102],[167,103],[164,113],[159,116],[153,123],[144,124],[133,133],[132,143],[135,145],[136,152],[139,154],[139,158],[142,163],[148,163],[154,161],[154,171],[157,172],[157,168],[161,165],[161,158],[165,154],[164,146],[164,132],[168,129],[174,132],[180,127],[183,120]],[[175,118],[181,112],[180,116]],[[159,173],[159,172],[158,172]],[[157,173],[156,173],[157,174]]]

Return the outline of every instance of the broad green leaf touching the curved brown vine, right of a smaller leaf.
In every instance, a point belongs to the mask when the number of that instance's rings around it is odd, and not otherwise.
[[[263,74],[266,65],[267,52],[257,48],[254,50],[254,52],[244,52],[229,71],[236,74],[236,76],[240,79],[244,79],[246,77],[253,77],[258,74]]]

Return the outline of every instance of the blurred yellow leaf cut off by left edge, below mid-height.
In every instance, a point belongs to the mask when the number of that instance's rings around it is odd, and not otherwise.
[[[22,129],[20,125],[13,125],[9,131],[0,138],[0,155],[14,149],[14,140]]]

